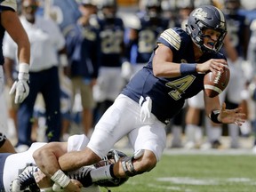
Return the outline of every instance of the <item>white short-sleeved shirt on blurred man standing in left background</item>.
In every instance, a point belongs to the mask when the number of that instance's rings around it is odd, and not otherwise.
[[[20,16],[20,22],[28,34],[30,42],[30,72],[39,72],[59,66],[58,54],[65,46],[65,38],[58,25],[50,19],[36,16],[36,22],[31,24],[25,17]],[[4,35],[4,57],[17,60],[18,46],[8,33]],[[42,55],[42,52],[44,53]],[[45,55],[45,57],[44,57]]]

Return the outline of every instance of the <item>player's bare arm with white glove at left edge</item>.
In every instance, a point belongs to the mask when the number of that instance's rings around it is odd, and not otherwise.
[[[28,68],[30,61],[30,44],[28,35],[22,27],[17,15],[17,2],[14,0],[0,1],[0,94],[4,90],[4,55],[3,39],[4,32],[7,31],[13,41],[18,45],[19,75],[17,81],[14,81],[10,93],[15,92],[15,103],[21,103],[28,96]],[[13,82],[12,82],[13,83]]]

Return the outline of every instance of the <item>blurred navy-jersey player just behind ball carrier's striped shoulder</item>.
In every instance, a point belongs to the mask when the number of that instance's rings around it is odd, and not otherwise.
[[[161,17],[161,1],[148,0],[145,12],[138,12],[140,28],[129,28],[127,52],[133,66],[132,74],[143,68],[154,50],[157,37],[168,28],[169,20]]]

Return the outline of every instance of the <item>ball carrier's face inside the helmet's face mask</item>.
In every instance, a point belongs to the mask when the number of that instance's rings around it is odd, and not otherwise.
[[[214,49],[215,44],[220,38],[220,32],[217,30],[213,30],[212,28],[206,28],[204,30],[204,46],[209,49]]]

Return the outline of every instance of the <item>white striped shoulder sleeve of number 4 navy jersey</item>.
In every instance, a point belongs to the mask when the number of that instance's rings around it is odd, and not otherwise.
[[[180,36],[172,28],[165,30],[160,37],[162,37],[167,43],[171,44],[177,51],[180,49]]]

